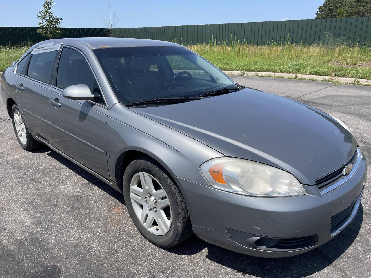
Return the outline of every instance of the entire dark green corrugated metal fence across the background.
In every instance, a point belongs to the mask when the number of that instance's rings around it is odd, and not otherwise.
[[[36,32],[37,27],[0,27],[0,45],[39,42],[45,40]],[[103,28],[62,28],[62,37],[104,37]],[[247,23],[204,24],[185,26],[118,28],[116,37],[167,40],[182,44],[217,43],[231,37],[253,44],[267,42],[285,42],[289,35],[290,42],[312,44],[321,40],[328,32],[335,38],[345,37],[352,43],[371,42],[371,17],[351,17],[335,19],[302,19],[283,21],[262,21]]]

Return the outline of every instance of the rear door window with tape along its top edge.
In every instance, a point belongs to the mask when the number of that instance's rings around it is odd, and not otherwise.
[[[31,55],[27,75],[45,83],[50,83],[54,58],[58,51],[48,51]]]

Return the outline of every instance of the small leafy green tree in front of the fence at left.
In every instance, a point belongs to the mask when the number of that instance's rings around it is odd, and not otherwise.
[[[37,29],[37,33],[50,39],[59,38],[63,30],[60,29],[60,23],[62,23],[62,17],[55,16],[52,8],[54,7],[54,0],[45,0],[43,9],[39,10],[36,14],[40,29]]]

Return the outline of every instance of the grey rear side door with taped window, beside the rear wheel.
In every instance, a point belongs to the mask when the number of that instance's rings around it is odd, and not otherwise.
[[[47,139],[47,101],[52,67],[58,50],[28,54],[17,65],[17,97],[27,125],[36,136]]]

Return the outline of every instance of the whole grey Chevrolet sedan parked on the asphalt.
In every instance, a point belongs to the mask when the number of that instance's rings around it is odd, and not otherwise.
[[[47,40],[13,62],[0,87],[22,148],[47,145],[122,192],[157,246],[194,233],[287,257],[357,214],[367,167],[343,122],[240,86],[179,44]]]

